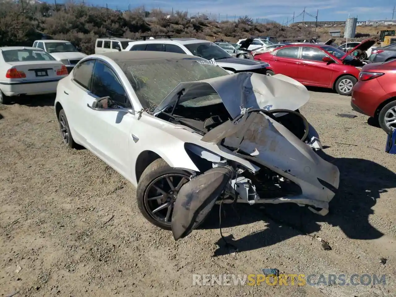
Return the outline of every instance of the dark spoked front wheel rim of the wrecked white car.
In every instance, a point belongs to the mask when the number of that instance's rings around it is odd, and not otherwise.
[[[154,179],[146,188],[144,204],[150,217],[171,225],[173,206],[180,188],[190,180],[182,173],[169,173]]]

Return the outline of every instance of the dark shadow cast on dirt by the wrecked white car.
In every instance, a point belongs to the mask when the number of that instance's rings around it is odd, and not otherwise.
[[[340,171],[339,192],[330,202],[330,211],[326,216],[312,213],[308,208],[296,204],[264,204],[249,206],[237,204],[234,209],[224,204],[222,209],[221,227],[234,227],[264,221],[265,229],[244,236],[238,240],[238,235],[228,234],[227,242],[239,251],[251,251],[270,246],[283,240],[301,234],[311,234],[320,231],[319,222],[326,222],[333,227],[339,227],[351,239],[377,239],[384,234],[371,226],[368,217],[373,214],[371,209],[381,193],[396,187],[396,174],[385,167],[364,159],[333,158],[320,153],[322,158],[333,163]],[[222,211],[223,212],[223,211]],[[240,220],[238,220],[238,215]],[[219,207],[213,208],[201,228],[219,228]],[[331,246],[331,242],[329,243]],[[219,248],[215,256],[232,252],[220,237]]]

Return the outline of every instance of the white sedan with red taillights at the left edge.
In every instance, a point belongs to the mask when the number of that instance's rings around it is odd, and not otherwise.
[[[67,74],[65,65],[42,49],[0,48],[0,103],[10,103],[11,96],[55,93]]]

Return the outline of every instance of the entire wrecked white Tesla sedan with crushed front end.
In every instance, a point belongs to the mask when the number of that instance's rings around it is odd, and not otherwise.
[[[57,87],[63,141],[82,145],[137,187],[145,218],[175,240],[213,204],[308,205],[326,215],[337,167],[320,158],[298,109],[309,93],[282,74],[229,74],[178,53],[82,59]]]

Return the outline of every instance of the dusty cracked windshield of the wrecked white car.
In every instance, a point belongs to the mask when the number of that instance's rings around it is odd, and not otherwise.
[[[153,111],[181,82],[194,82],[229,75],[223,68],[198,57],[132,60],[118,63],[124,70],[144,109]],[[206,105],[208,97],[192,105]],[[217,103],[217,102],[215,102]],[[188,104],[188,103],[185,103]]]

